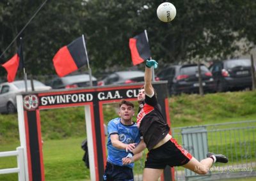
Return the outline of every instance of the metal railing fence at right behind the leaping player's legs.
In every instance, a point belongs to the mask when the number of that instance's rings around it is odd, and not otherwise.
[[[175,167],[175,180],[256,177],[256,120],[174,127],[172,136],[198,160],[208,151],[228,157],[227,164],[215,163],[207,175]],[[142,180],[144,160],[145,157],[136,163],[134,180]]]

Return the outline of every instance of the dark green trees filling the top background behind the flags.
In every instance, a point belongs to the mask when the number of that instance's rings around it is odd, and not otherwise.
[[[1,52],[42,2],[1,1]],[[144,29],[147,29],[152,57],[161,62],[160,66],[173,62],[226,59],[236,56],[237,52],[250,52],[255,46],[256,1],[173,0],[177,15],[167,24],[160,22],[156,15],[157,6],[162,2],[48,1],[22,33],[28,73],[55,74],[52,57],[59,48],[81,34],[86,38],[93,73],[106,68],[116,70],[132,66],[129,38]],[[1,57],[1,63],[12,57],[16,47],[17,44],[13,44]],[[4,74],[0,71],[0,75]]]

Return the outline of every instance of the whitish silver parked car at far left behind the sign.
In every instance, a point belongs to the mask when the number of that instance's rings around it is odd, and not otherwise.
[[[28,80],[28,91],[32,91],[31,80]],[[50,86],[38,80],[33,80],[34,91],[47,91]],[[11,83],[4,82],[0,84],[0,113],[14,113],[17,111],[16,95],[20,92],[25,92],[24,80],[16,80]]]

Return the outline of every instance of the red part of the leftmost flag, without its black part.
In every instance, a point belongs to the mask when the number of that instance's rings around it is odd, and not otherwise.
[[[15,54],[12,57],[12,59],[10,59],[9,61],[5,62],[2,65],[7,71],[8,82],[13,82],[15,80],[15,76],[16,76],[17,70],[19,68],[19,62],[20,62],[19,55]]]

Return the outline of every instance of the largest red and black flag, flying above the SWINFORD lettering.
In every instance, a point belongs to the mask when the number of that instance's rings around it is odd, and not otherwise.
[[[81,36],[60,48],[52,61],[58,76],[68,75],[84,66],[88,62],[84,37]]]

